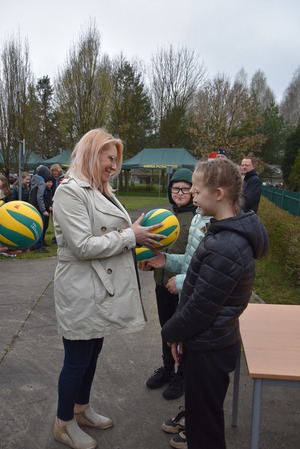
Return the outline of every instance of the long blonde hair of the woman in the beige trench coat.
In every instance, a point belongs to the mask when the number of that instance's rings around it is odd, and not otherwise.
[[[112,178],[117,177],[122,169],[123,144],[120,139],[113,137],[104,129],[92,129],[76,144],[66,177],[77,176],[79,179],[89,181],[94,189],[112,196],[113,189],[109,182],[104,185],[101,182],[101,161],[99,157],[100,153],[105,151],[110,144],[117,148],[116,171]]]

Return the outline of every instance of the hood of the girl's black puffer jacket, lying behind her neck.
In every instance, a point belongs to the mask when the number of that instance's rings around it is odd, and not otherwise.
[[[269,246],[268,232],[255,212],[241,212],[234,218],[211,220],[209,231],[218,233],[226,230],[236,232],[247,239],[252,247],[255,259],[261,259],[267,254]]]

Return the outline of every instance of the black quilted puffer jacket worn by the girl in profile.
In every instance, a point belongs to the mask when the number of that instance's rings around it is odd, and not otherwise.
[[[255,259],[268,234],[254,212],[211,220],[191,260],[177,311],[162,328],[167,342],[196,351],[222,349],[240,338],[238,317],[254,286]]]

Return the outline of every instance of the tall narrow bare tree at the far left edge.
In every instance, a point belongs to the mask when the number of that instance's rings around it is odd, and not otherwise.
[[[0,57],[0,150],[8,176],[17,166],[19,141],[34,145],[36,99],[27,41],[7,40]]]

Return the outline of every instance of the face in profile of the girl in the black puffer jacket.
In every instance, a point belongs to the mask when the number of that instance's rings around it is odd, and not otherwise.
[[[193,185],[191,188],[193,203],[201,210],[201,215],[215,216],[217,213],[217,192],[208,189],[203,181],[201,174],[197,177],[193,175]]]

